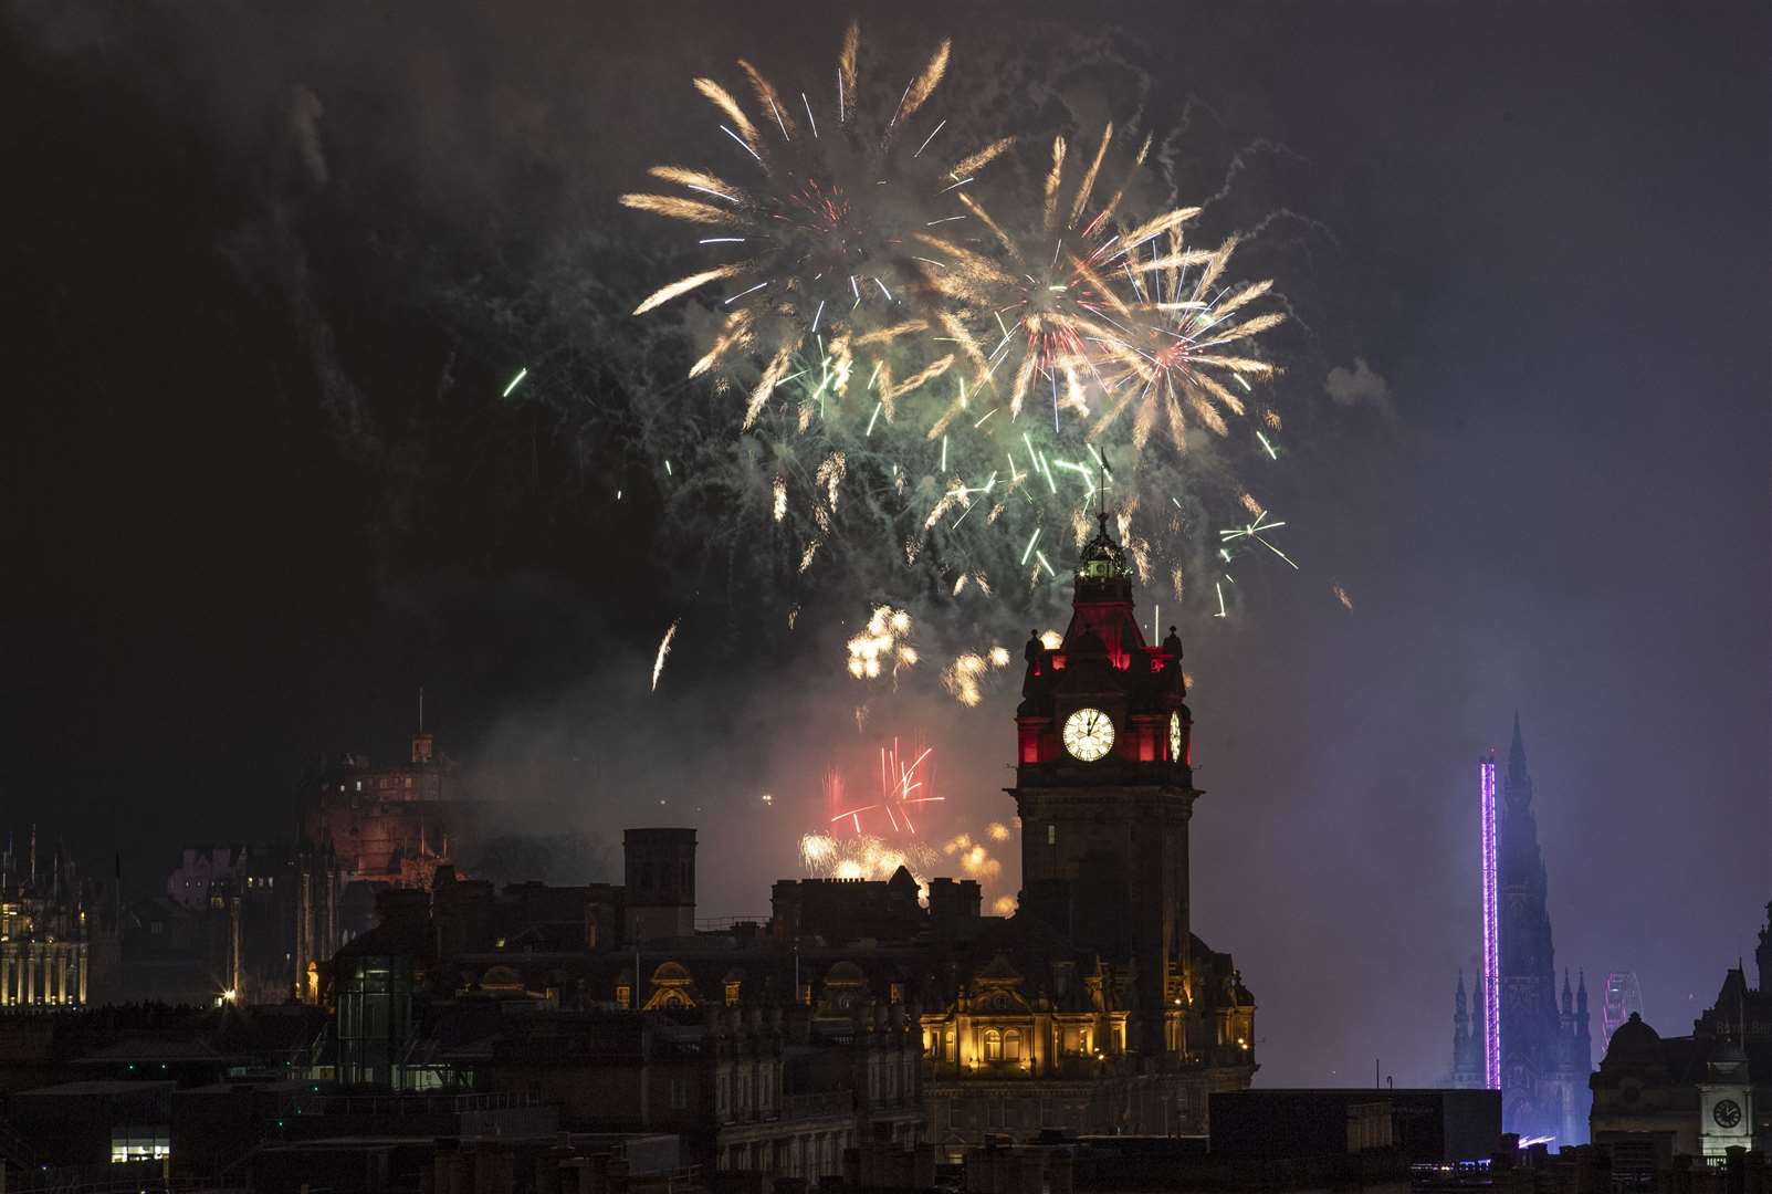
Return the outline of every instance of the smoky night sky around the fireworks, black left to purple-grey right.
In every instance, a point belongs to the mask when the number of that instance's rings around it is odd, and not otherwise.
[[[556,827],[532,795],[604,841],[696,824],[703,916],[796,873],[828,760],[872,749],[865,602],[831,581],[787,634],[686,574],[620,416],[677,390],[599,374],[599,337],[673,276],[615,195],[711,128],[689,78],[822,80],[847,14],[602,7],[5,9],[14,833],[145,891],[179,845],[287,836],[314,756],[399,756],[424,686],[514,829]],[[859,14],[905,62],[952,32],[959,89],[1113,44],[1223,227],[1278,213],[1302,569],[1182,618],[1194,928],[1260,1001],[1258,1082],[1444,1079],[1515,710],[1558,965],[1595,1020],[1634,969],[1687,1031],[1772,898],[1768,9],[1108,7]],[[597,415],[500,399],[542,324]],[[952,827],[1012,815],[1014,684],[897,700]]]

